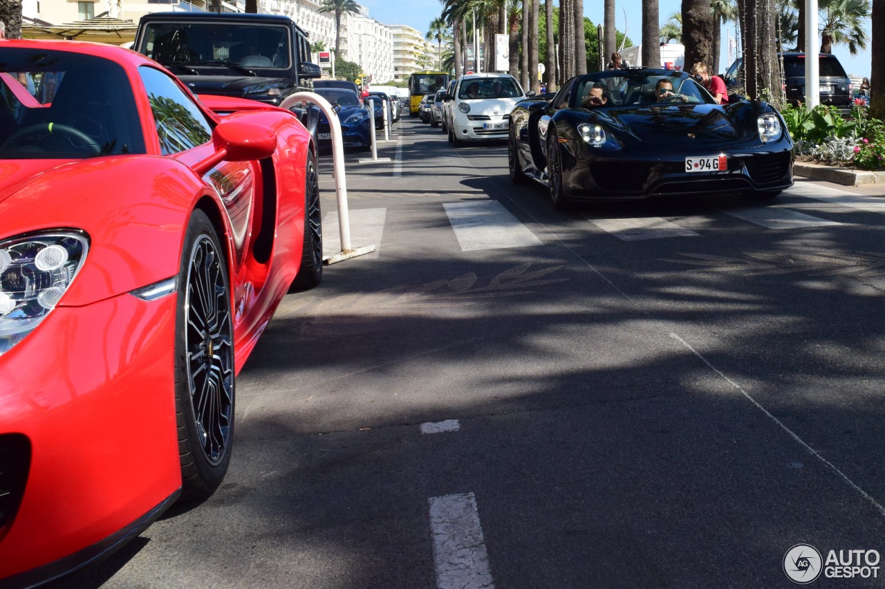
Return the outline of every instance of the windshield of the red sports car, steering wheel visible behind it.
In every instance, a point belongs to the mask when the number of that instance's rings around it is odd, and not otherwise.
[[[145,153],[119,65],[56,50],[0,46],[0,159]]]

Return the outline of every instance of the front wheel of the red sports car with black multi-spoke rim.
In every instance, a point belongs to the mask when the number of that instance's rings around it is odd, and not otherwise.
[[[212,222],[195,210],[181,252],[175,313],[175,421],[184,501],[212,495],[233,447],[234,324],[225,260]]]

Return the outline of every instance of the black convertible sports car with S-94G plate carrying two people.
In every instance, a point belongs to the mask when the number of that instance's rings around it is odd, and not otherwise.
[[[510,177],[571,200],[742,192],[773,198],[793,185],[793,142],[770,104],[717,104],[689,74],[626,69],[568,80],[510,115]]]

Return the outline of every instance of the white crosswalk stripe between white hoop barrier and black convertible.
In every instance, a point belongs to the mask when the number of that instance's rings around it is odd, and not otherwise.
[[[462,251],[543,245],[535,233],[497,201],[443,203]]]

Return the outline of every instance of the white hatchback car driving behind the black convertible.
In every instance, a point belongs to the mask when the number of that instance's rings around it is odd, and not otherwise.
[[[526,93],[509,73],[468,73],[447,97],[449,142],[458,147],[465,141],[506,139],[510,111]]]

